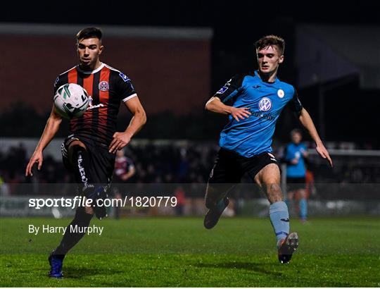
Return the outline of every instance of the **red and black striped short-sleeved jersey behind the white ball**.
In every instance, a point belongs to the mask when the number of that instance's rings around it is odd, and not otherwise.
[[[119,70],[102,63],[93,71],[75,66],[62,73],[54,83],[54,94],[66,83],[82,86],[90,99],[84,115],[70,119],[70,134],[108,147],[116,131],[120,102],[137,96],[131,80]]]

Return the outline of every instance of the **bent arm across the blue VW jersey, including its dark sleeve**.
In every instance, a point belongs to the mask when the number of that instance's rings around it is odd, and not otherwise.
[[[224,86],[218,90],[205,104],[205,109],[222,114],[231,114],[236,121],[239,119],[248,118],[251,115],[248,107],[234,107],[234,101],[239,95],[243,76],[235,75],[228,80]],[[229,105],[232,104],[232,105]]]

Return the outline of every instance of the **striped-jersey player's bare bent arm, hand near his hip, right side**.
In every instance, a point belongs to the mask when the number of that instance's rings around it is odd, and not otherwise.
[[[122,133],[115,133],[113,135],[113,140],[110,143],[109,151],[115,154],[118,149],[125,147],[132,137],[141,130],[141,128],[146,123],[146,113],[144,107],[139,101],[139,97],[135,96],[124,102],[127,109],[133,114],[133,117],[127,127],[127,129]]]

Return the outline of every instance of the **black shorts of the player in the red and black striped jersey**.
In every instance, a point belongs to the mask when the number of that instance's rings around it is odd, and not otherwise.
[[[70,161],[68,159],[68,147],[70,146],[70,143],[75,140],[80,140],[86,146],[87,152],[89,154],[89,171],[91,173],[93,182],[110,184],[112,180],[113,169],[115,168],[115,154],[108,152],[108,147],[106,147],[106,145],[101,146],[99,144],[94,144],[94,142],[91,142],[82,137],[69,135],[66,137],[61,146],[62,159],[65,168],[67,168],[70,172],[72,171]]]

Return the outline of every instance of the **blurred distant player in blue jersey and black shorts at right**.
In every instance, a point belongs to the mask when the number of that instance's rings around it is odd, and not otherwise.
[[[301,140],[301,131],[294,129],[291,131],[291,143],[286,145],[286,204],[289,207],[293,201],[298,201],[297,211],[300,220],[305,222],[308,216],[305,166],[305,159],[308,157],[308,152],[305,144],[301,143]]]

